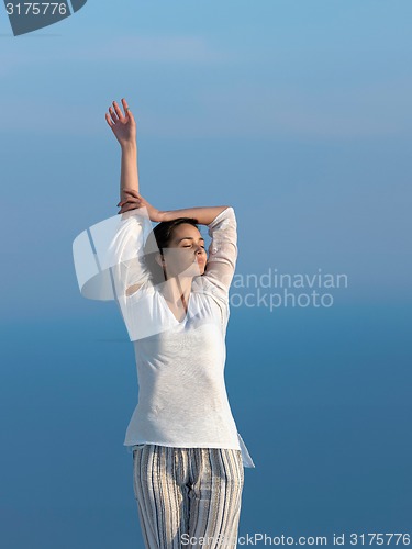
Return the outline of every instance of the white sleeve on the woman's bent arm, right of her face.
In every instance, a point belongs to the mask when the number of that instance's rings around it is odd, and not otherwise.
[[[204,277],[226,296],[236,268],[237,224],[232,206],[226,208],[208,225],[212,238]]]

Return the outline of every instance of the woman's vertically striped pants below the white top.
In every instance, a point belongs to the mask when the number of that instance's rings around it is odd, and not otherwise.
[[[244,470],[241,450],[133,450],[133,486],[148,549],[235,548]]]

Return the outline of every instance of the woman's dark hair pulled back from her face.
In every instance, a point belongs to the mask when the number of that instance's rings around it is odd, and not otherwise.
[[[199,222],[194,217],[177,217],[172,221],[162,221],[158,223],[146,239],[144,245],[144,261],[151,271],[152,281],[155,285],[166,281],[165,271],[155,259],[156,255],[159,253],[163,255],[164,248],[169,247],[175,228],[182,223],[189,223],[199,229]]]

